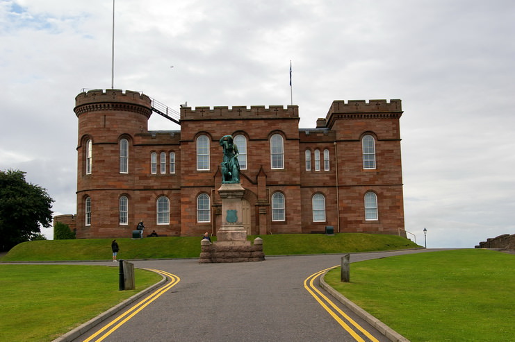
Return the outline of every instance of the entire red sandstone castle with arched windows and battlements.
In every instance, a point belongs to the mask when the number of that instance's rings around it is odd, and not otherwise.
[[[309,129],[297,105],[182,107],[170,131],[147,129],[153,111],[139,92],[76,96],[77,214],[56,219],[78,238],[131,237],[141,220],[145,233],[215,234],[224,135],[240,153],[248,234],[404,235],[400,100],[334,101]]]

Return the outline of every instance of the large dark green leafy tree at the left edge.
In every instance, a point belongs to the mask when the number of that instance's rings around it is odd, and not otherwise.
[[[37,239],[40,226],[51,226],[52,202],[46,189],[26,182],[25,172],[0,171],[0,249]]]

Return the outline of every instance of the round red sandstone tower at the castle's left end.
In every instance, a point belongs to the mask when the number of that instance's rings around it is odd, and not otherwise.
[[[136,157],[136,135],[148,130],[152,101],[140,92],[96,89],[76,96],[74,112],[79,119],[77,237],[129,237],[133,227],[124,227],[128,223],[119,214],[120,189],[131,196],[128,176],[136,166],[129,160]]]

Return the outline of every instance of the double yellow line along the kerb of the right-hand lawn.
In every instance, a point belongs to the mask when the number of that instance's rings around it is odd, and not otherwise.
[[[336,322],[338,322],[343,327],[343,329],[345,329],[356,341],[366,341],[357,333],[361,332],[363,336],[366,336],[368,338],[368,341],[379,342],[374,336],[372,336],[372,334],[370,334],[370,332],[366,331],[363,327],[361,327],[361,325],[356,323],[352,318],[345,314],[345,312],[343,312],[338,306],[336,306],[334,302],[332,302],[332,300],[329,300],[329,298],[327,298],[322,292],[320,292],[313,284],[313,282],[318,277],[320,277],[320,275],[325,273],[325,271],[328,271],[335,267],[338,266],[326,268],[325,270],[318,271],[317,273],[313,273],[312,275],[307,277],[306,280],[304,280],[304,288],[311,294],[311,296],[313,296],[313,298],[316,299],[318,304],[322,305],[325,311],[327,311],[334,318],[334,320],[336,320]],[[354,326],[354,328],[352,328],[346,322],[350,323],[350,325]]]

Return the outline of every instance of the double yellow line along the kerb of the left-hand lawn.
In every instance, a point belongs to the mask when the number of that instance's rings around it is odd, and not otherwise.
[[[145,268],[145,269],[147,269],[149,271],[154,271],[156,273],[164,275],[165,277],[169,277],[170,280],[172,280],[172,282],[170,282],[170,284],[167,284],[165,287],[161,287],[160,289],[157,289],[151,295],[147,296],[147,298],[140,300],[140,302],[138,302],[138,304],[134,305],[133,307],[131,307],[130,309],[125,311],[122,315],[118,316],[115,320],[113,320],[108,325],[102,327],[101,330],[99,330],[98,332],[95,332],[95,334],[90,336],[88,339],[85,339],[84,342],[90,342],[90,341],[94,341],[94,340],[95,340],[95,342],[104,341],[104,339],[106,339],[107,336],[111,335],[115,330],[117,330],[119,327],[124,325],[124,323],[126,323],[127,320],[136,316],[136,314],[138,314],[138,312],[140,312],[142,309],[145,309],[145,307],[147,307],[147,305],[149,305],[151,302],[154,302],[154,300],[161,297],[161,295],[163,295],[163,293],[172,289],[172,287],[174,287],[178,282],[181,281],[181,278],[177,277],[177,275],[173,275],[172,273],[168,273],[168,272],[161,271],[161,270],[154,270],[152,268]],[[109,329],[110,327],[111,327],[111,329]],[[106,332],[106,330],[108,330],[108,331]],[[100,334],[102,334],[102,335],[99,336]],[[97,336],[99,336],[99,338],[95,339]]]

